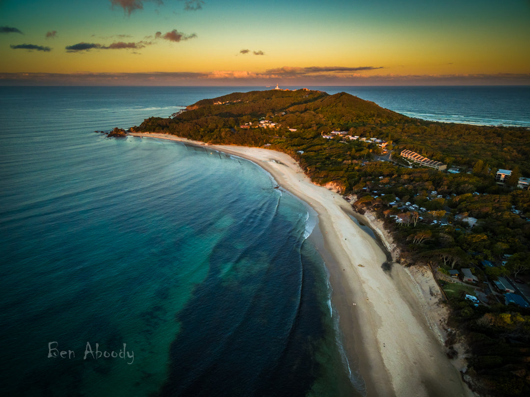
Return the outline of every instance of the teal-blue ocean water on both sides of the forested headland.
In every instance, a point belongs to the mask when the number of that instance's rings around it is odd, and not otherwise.
[[[530,126],[529,87],[314,88]],[[310,207],[242,158],[95,132],[255,89],[0,87],[1,395],[365,394]]]

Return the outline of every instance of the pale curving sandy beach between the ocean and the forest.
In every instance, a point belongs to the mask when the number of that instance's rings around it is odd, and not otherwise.
[[[204,145],[164,134],[130,134]],[[321,254],[330,272],[333,305],[350,358],[357,357],[368,396],[472,396],[443,346],[432,275],[386,263],[385,252],[350,218],[338,193],[316,186],[287,154],[264,148],[208,145],[246,158],[268,171],[285,190],[319,216]],[[366,222],[377,231],[375,219]],[[384,245],[390,237],[379,228]]]

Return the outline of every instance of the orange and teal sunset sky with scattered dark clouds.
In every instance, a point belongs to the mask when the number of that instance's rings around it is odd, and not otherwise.
[[[0,0],[0,85],[530,85],[530,0]]]

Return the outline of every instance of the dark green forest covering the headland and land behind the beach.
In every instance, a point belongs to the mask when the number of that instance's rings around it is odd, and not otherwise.
[[[276,128],[260,128],[261,120]],[[485,293],[498,277],[530,279],[530,191],[515,187],[518,177],[530,177],[526,128],[414,119],[347,93],[271,90],[201,100],[131,130],[210,144],[270,144],[293,156],[313,182],[335,182],[357,211],[383,219],[405,266],[425,264],[441,273],[470,268],[479,278],[473,287]],[[322,137],[332,130],[385,140],[388,153],[360,139]],[[399,156],[404,149],[460,172],[410,165]],[[497,169],[513,175],[499,185]],[[495,266],[484,267],[485,260]],[[473,387],[482,395],[530,395],[530,310],[504,305],[500,294],[478,307],[463,295],[447,299],[452,327],[471,349]]]

